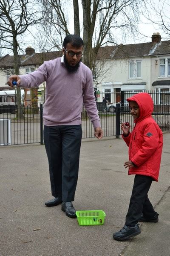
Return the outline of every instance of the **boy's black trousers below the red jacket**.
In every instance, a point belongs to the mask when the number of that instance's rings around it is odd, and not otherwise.
[[[153,218],[155,211],[147,197],[153,179],[149,176],[135,175],[129,209],[125,225],[134,226],[143,214],[146,218]]]

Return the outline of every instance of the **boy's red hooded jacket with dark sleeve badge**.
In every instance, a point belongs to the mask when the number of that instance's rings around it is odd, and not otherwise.
[[[152,117],[153,100],[148,93],[138,93],[127,99],[135,101],[140,110],[139,118],[135,119],[135,127],[125,140],[129,147],[129,160],[135,167],[128,174],[146,175],[158,181],[163,147],[163,135],[159,125]]]

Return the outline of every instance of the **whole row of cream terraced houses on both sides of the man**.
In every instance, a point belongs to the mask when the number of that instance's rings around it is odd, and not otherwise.
[[[20,55],[20,74],[31,73],[44,61],[60,57],[62,52],[36,53],[31,47]],[[159,33],[153,33],[149,43],[120,44],[99,49],[94,70],[94,87],[102,92],[109,102],[119,102],[120,92],[161,92],[157,104],[170,103],[170,41],[161,41]],[[14,58],[0,57],[0,90],[9,89],[8,76],[14,73]],[[37,90],[37,92],[36,92]],[[41,84],[34,96],[44,96],[45,84]],[[30,91],[25,90],[29,101]]]

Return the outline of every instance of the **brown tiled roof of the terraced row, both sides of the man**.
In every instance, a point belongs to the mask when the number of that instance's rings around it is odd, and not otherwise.
[[[141,44],[120,44],[118,46],[100,47],[97,53],[97,60],[116,59],[116,58],[141,58],[145,56],[157,56],[170,54],[170,40],[160,41],[159,43]],[[21,66],[40,66],[44,61],[61,57],[61,51],[33,53],[32,55],[19,55]],[[0,67],[14,67],[14,56],[5,55],[0,58]]]

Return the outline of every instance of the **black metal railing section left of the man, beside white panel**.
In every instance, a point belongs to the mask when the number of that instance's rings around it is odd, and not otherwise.
[[[20,113],[20,114],[18,114]],[[40,108],[17,107],[0,113],[0,145],[40,143]]]

